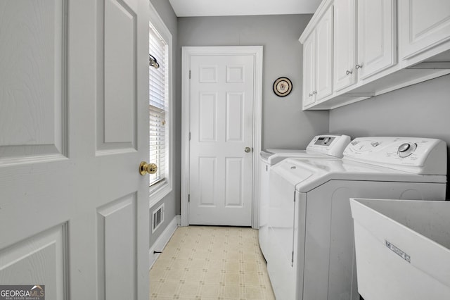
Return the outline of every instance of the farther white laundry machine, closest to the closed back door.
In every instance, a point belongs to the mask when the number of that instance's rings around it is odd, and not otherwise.
[[[348,135],[316,135],[306,150],[266,149],[260,156],[259,181],[259,246],[266,256],[269,243],[267,213],[269,204],[269,171],[272,165],[288,157],[302,158],[341,158],[342,152],[351,141]]]

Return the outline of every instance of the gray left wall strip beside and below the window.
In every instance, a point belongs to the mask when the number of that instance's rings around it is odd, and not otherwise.
[[[172,33],[172,51],[173,51],[173,61],[172,61],[172,72],[176,74],[177,65],[180,63],[177,49],[177,18],[172,9],[172,6],[167,0],[150,0],[151,4],[158,11],[162,21],[165,23],[167,29]],[[174,84],[176,85],[177,77],[174,76]],[[173,220],[175,215],[179,214],[179,201],[180,201],[180,185],[181,185],[181,104],[177,100],[176,89],[173,90],[173,102],[174,102],[174,182],[172,184],[172,192],[170,192],[164,199],[162,199],[155,207],[158,207],[162,202],[165,203],[165,222],[156,230],[153,234],[151,233],[150,227],[150,246],[158,239],[161,233],[165,230],[169,222]],[[176,211],[178,207],[178,212]],[[151,213],[152,208],[150,208],[150,223],[151,223]],[[151,226],[151,224],[150,224]]]

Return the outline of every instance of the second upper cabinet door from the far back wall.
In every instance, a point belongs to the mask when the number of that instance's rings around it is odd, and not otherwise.
[[[316,26],[316,101],[333,94],[333,6]]]

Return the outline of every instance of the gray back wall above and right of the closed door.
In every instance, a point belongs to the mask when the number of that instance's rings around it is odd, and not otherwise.
[[[263,149],[304,149],[312,136],[328,132],[328,111],[302,112],[302,44],[298,38],[311,16],[251,15],[178,20],[179,57],[181,46],[263,46]],[[178,73],[181,74],[181,65]],[[179,97],[180,76],[177,78]],[[293,92],[285,97],[278,97],[272,91],[274,81],[281,76],[293,82]]]

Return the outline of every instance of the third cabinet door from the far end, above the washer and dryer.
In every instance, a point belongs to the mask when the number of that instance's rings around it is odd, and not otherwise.
[[[356,81],[355,0],[336,0],[334,8],[333,87],[340,91]]]

